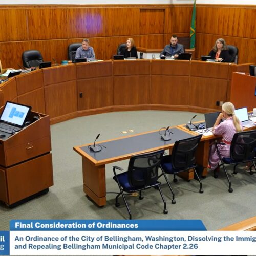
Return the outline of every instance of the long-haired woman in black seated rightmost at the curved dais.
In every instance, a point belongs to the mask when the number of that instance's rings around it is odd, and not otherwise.
[[[211,59],[217,62],[230,62],[231,56],[229,55],[226,42],[223,38],[216,40],[214,47],[208,54]]]

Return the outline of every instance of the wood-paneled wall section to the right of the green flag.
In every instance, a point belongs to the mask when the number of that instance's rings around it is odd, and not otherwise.
[[[239,63],[256,62],[256,6],[197,6],[196,57],[222,37],[239,49]]]

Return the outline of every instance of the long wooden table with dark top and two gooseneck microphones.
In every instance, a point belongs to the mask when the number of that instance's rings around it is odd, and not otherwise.
[[[131,136],[125,136],[112,140],[100,141],[101,151],[90,150],[91,144],[75,146],[74,151],[82,156],[83,191],[98,206],[106,204],[106,182],[105,165],[124,159],[129,159],[133,155],[152,152],[157,150],[170,150],[177,140],[194,137],[196,134],[181,127],[174,126],[169,129],[171,140],[161,139],[159,131],[150,131]],[[164,131],[161,131],[164,133]],[[207,148],[208,151],[208,148]],[[199,153],[200,154],[200,153]],[[202,164],[199,160],[198,164]],[[207,164],[206,164],[207,166]],[[194,172],[188,173],[187,178],[193,179]]]

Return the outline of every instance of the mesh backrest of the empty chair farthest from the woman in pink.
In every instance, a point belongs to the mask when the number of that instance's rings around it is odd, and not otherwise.
[[[155,184],[163,153],[164,150],[160,150],[131,157],[128,166],[129,183],[136,187]]]

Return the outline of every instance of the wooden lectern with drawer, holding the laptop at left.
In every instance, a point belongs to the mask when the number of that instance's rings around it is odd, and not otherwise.
[[[21,131],[0,133],[6,135],[0,138],[0,201],[13,208],[47,193],[53,185],[49,116],[31,111]]]

